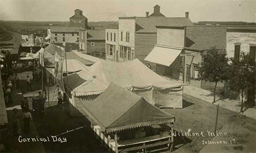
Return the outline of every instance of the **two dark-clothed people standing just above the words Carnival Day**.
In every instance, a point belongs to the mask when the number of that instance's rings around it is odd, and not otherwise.
[[[13,136],[21,134],[21,120],[23,119],[23,131],[28,134],[30,132],[30,121],[32,115],[30,113],[30,106],[27,99],[21,101],[22,115],[17,108],[13,109],[13,116],[11,117],[11,126]]]

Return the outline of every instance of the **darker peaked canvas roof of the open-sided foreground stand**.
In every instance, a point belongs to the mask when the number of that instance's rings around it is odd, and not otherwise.
[[[174,116],[113,83],[85,109],[106,132],[174,122]]]

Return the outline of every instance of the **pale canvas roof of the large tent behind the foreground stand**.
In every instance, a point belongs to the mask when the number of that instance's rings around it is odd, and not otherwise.
[[[138,59],[121,63],[100,60],[90,66],[90,73],[95,77],[91,78],[90,82],[86,81],[74,89],[75,96],[100,94],[111,82],[126,89],[145,89],[152,86],[159,89],[170,89],[182,86],[178,81],[162,78]]]

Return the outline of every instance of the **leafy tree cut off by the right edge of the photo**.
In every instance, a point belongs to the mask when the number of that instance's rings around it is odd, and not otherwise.
[[[254,55],[255,56],[255,55]],[[255,57],[245,52],[241,52],[240,60],[231,59],[229,66],[228,86],[230,90],[241,93],[241,109],[243,112],[243,97],[245,90],[255,89],[256,64]],[[255,94],[255,93],[254,93]]]

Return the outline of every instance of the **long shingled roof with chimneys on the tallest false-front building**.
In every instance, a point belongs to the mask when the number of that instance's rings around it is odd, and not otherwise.
[[[155,26],[194,26],[186,17],[135,17],[137,33],[156,33]]]

